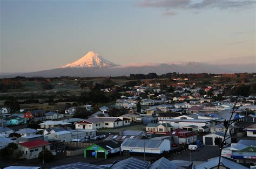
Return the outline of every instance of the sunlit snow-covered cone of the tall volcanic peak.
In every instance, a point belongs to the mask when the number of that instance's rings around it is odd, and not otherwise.
[[[64,65],[60,68],[109,68],[115,66],[118,65],[91,51],[77,61]]]

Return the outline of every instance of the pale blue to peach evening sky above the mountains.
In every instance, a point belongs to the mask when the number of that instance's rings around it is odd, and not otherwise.
[[[1,72],[256,55],[255,0],[0,0]]]

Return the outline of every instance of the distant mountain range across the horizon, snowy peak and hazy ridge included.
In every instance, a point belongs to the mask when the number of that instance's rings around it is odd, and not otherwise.
[[[15,76],[43,76],[47,78],[59,76],[77,76],[77,77],[97,77],[97,76],[122,76],[138,73],[157,73],[165,74],[170,72],[178,73],[253,73],[256,72],[255,61],[251,64],[227,64],[215,65],[206,64],[204,62],[169,62],[165,64],[130,64],[120,66],[111,61],[104,59],[97,53],[89,52],[84,57],[70,64],[64,65],[56,69],[31,73],[17,73],[9,75],[0,75],[0,78],[13,78]]]

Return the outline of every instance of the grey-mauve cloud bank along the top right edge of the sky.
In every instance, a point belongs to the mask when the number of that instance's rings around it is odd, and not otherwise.
[[[164,16],[174,16],[176,10],[241,10],[251,8],[256,1],[254,0],[144,0],[139,4],[142,8],[164,8]],[[174,10],[174,11],[173,11]]]

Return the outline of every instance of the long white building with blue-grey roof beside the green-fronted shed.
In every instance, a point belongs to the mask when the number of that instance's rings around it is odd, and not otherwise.
[[[124,154],[133,153],[161,154],[163,151],[171,150],[170,140],[150,140],[127,138],[121,144],[121,151]]]

